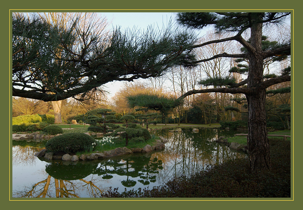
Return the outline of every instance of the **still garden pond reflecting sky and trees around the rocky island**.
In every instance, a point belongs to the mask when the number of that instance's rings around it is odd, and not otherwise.
[[[220,129],[192,129],[172,133],[152,131],[168,140],[160,152],[132,154],[95,161],[49,161],[35,157],[39,143],[13,141],[13,197],[100,197],[109,189],[118,191],[160,186],[174,176],[190,176],[208,165],[222,163],[246,154],[231,151],[217,143],[218,136],[236,132]]]

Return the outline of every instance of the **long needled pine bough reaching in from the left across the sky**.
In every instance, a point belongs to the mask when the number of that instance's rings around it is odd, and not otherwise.
[[[148,28],[111,32],[81,26],[79,19],[51,25],[32,16],[13,15],[13,96],[78,100],[111,81],[157,77],[176,65],[193,65],[196,41],[186,30]]]

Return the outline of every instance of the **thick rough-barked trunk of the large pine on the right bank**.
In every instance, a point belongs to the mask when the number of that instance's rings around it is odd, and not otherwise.
[[[256,87],[263,82],[262,23],[251,27],[250,39],[255,51],[249,53],[248,88]],[[271,168],[266,130],[265,91],[265,89],[259,88],[256,93],[246,95],[248,103],[247,146],[251,170],[254,172]]]

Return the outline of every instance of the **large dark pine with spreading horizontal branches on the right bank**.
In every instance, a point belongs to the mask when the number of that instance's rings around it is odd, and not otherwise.
[[[235,36],[220,40],[210,40],[193,46],[198,48],[211,43],[220,43],[235,40],[239,42],[246,52],[242,54],[228,54],[226,52],[214,55],[196,63],[209,61],[218,57],[245,58],[248,60],[247,79],[240,83],[228,82],[227,78],[215,78],[208,85],[220,85],[225,83],[229,88],[211,88],[204,90],[191,90],[180,98],[191,94],[206,92],[242,93],[245,94],[248,103],[248,152],[252,171],[270,169],[270,152],[266,130],[265,98],[266,88],[285,81],[290,81],[290,71],[280,77],[264,80],[263,61],[268,58],[290,55],[290,40],[286,43],[276,44],[275,47],[262,49],[262,27],[270,23],[283,23],[290,13],[178,13],[178,22],[192,28],[203,28],[214,24],[218,32],[234,31]],[[250,40],[246,41],[241,35],[250,29]],[[205,82],[205,81],[204,81]],[[244,85],[247,84],[247,87]]]

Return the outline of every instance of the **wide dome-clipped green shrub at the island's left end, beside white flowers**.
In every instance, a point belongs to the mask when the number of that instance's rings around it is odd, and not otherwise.
[[[45,148],[51,152],[76,153],[84,151],[92,143],[96,143],[96,140],[85,133],[64,133],[51,138]]]

